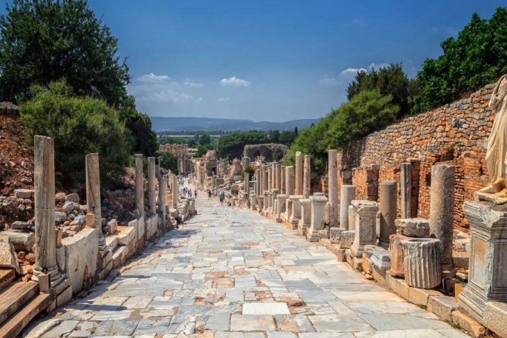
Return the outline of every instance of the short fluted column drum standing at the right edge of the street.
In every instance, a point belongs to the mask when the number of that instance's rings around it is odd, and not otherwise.
[[[433,238],[414,238],[401,241],[408,286],[432,289],[440,278],[440,241]]]

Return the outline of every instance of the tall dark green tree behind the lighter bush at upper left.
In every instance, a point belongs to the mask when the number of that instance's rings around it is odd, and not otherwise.
[[[32,84],[65,79],[80,96],[119,108],[130,82],[118,39],[86,0],[13,0],[0,18],[0,93],[19,102]],[[29,97],[28,97],[29,98]]]

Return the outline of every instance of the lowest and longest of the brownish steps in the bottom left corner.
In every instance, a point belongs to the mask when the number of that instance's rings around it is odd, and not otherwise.
[[[22,309],[0,325],[0,338],[15,338],[28,323],[46,308],[53,300],[50,293],[41,293],[33,297]]]

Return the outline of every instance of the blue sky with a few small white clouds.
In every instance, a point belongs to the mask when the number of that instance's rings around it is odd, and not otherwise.
[[[317,118],[355,70],[403,62],[415,76],[440,42],[504,0],[89,0],[128,56],[150,116]]]

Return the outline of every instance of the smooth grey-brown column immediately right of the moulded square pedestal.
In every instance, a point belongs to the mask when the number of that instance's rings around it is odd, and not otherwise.
[[[382,181],[380,183],[380,234],[379,246],[387,249],[389,247],[389,236],[396,233],[396,203],[397,203],[396,181]]]

